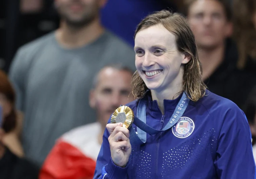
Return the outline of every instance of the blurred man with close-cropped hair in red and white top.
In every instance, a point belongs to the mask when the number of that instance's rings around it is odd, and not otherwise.
[[[108,65],[100,70],[89,97],[90,106],[97,111],[97,122],[62,135],[46,158],[40,179],[93,178],[108,119],[120,105],[134,100],[132,74],[132,70],[121,65]],[[85,120],[89,117],[85,116]]]

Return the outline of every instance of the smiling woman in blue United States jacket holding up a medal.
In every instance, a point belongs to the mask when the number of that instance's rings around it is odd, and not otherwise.
[[[135,31],[134,50],[137,99],[126,105],[134,123],[127,129],[109,120],[94,179],[255,178],[245,114],[206,90],[186,19],[150,14]]]

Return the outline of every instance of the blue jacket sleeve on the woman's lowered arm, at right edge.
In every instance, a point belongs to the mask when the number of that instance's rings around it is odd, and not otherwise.
[[[250,127],[235,105],[224,114],[214,165],[220,179],[256,178]]]

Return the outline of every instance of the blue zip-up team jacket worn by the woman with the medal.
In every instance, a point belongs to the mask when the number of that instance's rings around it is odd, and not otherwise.
[[[199,101],[189,102],[182,122],[158,135],[147,134],[146,144],[140,147],[132,146],[125,168],[111,160],[109,133],[105,130],[94,179],[255,179],[251,132],[244,112],[232,101],[206,93]],[[147,124],[160,130],[168,123],[181,95],[164,100],[164,115],[150,92],[145,97]],[[126,105],[134,115],[137,104],[133,101]]]

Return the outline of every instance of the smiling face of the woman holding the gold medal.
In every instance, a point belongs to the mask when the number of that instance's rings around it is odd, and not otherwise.
[[[183,69],[189,59],[180,54],[176,37],[163,25],[139,31],[135,36],[135,65],[150,90],[169,90],[182,83]]]

